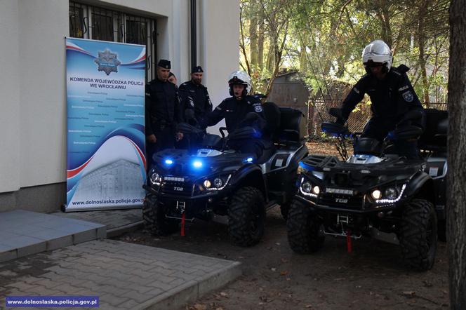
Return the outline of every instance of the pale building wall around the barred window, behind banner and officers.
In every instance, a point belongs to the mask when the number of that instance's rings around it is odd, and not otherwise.
[[[227,75],[238,67],[239,1],[197,2],[198,64],[215,106],[227,97]],[[179,82],[189,79],[189,1],[86,3],[157,19],[158,58],[172,61]],[[0,202],[1,193],[66,180],[68,11],[65,0],[0,1]],[[20,200],[13,196],[8,203]],[[12,208],[0,203],[0,211]]]

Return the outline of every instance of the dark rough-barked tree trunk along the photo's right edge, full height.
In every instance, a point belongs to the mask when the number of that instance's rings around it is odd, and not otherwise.
[[[451,309],[466,309],[466,0],[450,4],[447,246]]]

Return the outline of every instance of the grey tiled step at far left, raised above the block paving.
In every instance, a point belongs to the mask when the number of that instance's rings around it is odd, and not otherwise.
[[[105,225],[26,210],[0,213],[0,262],[105,238]]]

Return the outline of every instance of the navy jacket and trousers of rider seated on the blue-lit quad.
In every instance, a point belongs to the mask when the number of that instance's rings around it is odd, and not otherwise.
[[[244,122],[248,113],[257,114],[258,117],[253,123]],[[228,133],[233,133],[234,130],[244,126],[253,126],[262,133],[266,125],[262,104],[260,100],[252,96],[245,96],[241,100],[237,100],[235,97],[223,100],[200,123],[205,128],[215,125],[222,119],[225,119]],[[251,139],[244,141],[230,141],[229,147],[237,149],[241,153],[253,154],[255,159],[258,159],[269,143],[268,137],[251,137]]]

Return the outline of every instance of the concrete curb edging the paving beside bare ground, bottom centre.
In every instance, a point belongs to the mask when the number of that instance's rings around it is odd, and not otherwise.
[[[228,267],[206,274],[198,281],[189,281],[174,290],[149,299],[134,309],[179,309],[188,302],[194,302],[207,292],[221,288],[241,274],[241,263],[233,262]]]

